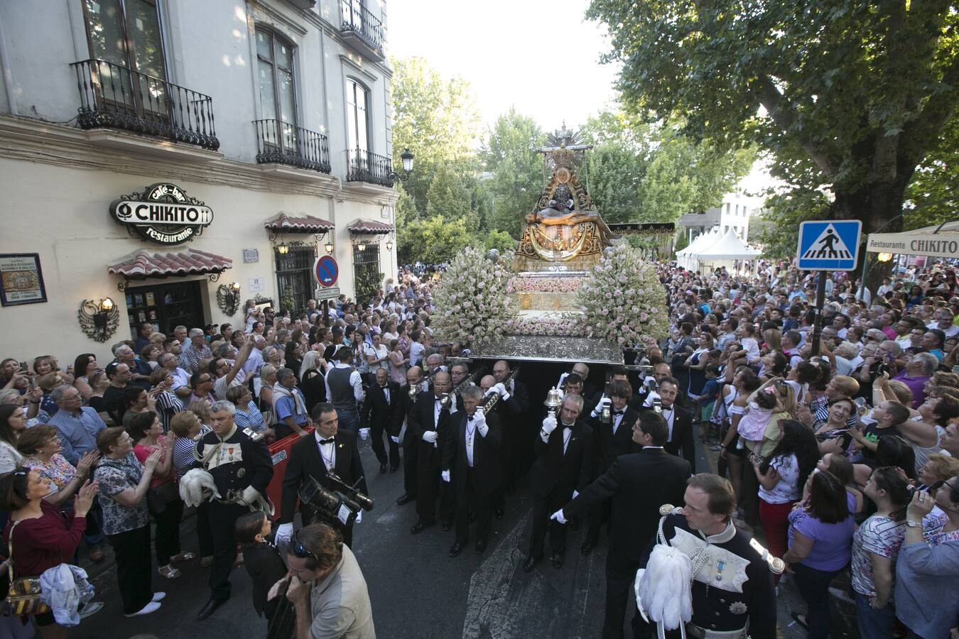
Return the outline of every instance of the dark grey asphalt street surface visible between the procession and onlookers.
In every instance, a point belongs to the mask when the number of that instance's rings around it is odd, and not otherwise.
[[[714,468],[713,460],[700,456],[701,468]],[[589,557],[579,554],[584,528],[571,531],[565,565],[556,570],[546,558],[531,573],[522,569],[528,545],[532,502],[528,486],[521,483],[507,497],[502,520],[493,522],[489,547],[482,555],[471,545],[456,559],[447,556],[453,532],[436,525],[413,536],[414,505],[396,505],[403,492],[402,469],[379,474],[379,465],[365,442],[363,468],[367,473],[375,508],[365,513],[354,533],[356,553],[369,588],[377,636],[388,639],[509,639],[519,637],[582,638],[599,636],[602,622],[605,546],[600,543]],[[183,524],[184,550],[197,551],[192,517]],[[151,615],[127,619],[122,614],[115,571],[107,561],[88,566],[94,575],[97,599],[105,608],[83,620],[70,632],[78,639],[127,638],[146,634],[161,639],[198,637],[237,639],[266,635],[266,620],[251,605],[250,584],[243,568],[234,569],[229,602],[204,621],[196,618],[209,596],[206,570],[199,560],[180,564],[182,576],[168,581],[154,573],[153,587],[164,590],[162,608]],[[789,610],[805,611],[794,586],[781,586],[781,636],[802,637],[789,627]],[[836,612],[840,624],[833,636],[855,636],[848,616]],[[627,634],[627,636],[629,636]]]

